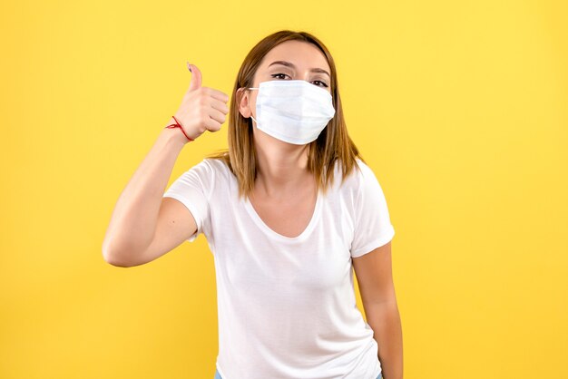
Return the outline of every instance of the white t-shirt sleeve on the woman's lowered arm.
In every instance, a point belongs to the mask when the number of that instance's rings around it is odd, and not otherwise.
[[[387,199],[375,173],[364,162],[358,164],[361,171],[357,171],[355,232],[350,249],[352,258],[361,257],[387,244],[395,236]]]

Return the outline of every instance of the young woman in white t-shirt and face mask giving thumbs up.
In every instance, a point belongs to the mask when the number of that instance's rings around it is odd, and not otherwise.
[[[402,379],[395,231],[348,136],[328,49],[305,32],[270,34],[242,63],[230,109],[191,73],[116,204],[105,260],[142,265],[203,233],[217,278],[216,379]],[[182,147],[219,131],[227,113],[229,149],[164,193]]]

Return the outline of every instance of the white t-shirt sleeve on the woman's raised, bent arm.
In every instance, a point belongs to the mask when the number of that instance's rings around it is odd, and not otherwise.
[[[163,194],[164,198],[181,201],[190,210],[197,225],[197,230],[187,240],[193,242],[200,233],[207,235],[210,225],[211,190],[215,180],[215,172],[211,163],[201,160],[200,163],[185,171]]]

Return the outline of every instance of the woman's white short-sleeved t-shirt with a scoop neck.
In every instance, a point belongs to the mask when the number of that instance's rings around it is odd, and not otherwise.
[[[193,215],[214,257],[223,379],[376,379],[373,330],[357,308],[351,258],[395,235],[387,202],[361,160],[320,190],[308,227],[290,238],[238,199],[237,178],[206,158],[164,193]]]

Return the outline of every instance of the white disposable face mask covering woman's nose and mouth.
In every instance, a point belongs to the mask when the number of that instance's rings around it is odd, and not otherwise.
[[[281,141],[304,145],[318,138],[335,114],[331,94],[303,80],[261,82],[257,128]]]

